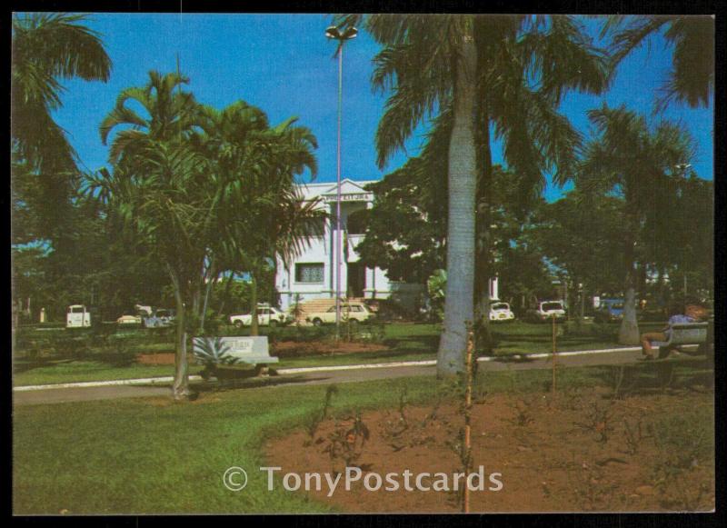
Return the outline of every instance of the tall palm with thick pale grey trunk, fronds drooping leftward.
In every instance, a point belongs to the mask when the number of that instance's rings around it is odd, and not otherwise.
[[[467,322],[474,322],[474,234],[477,191],[477,55],[469,15],[371,15],[367,29],[385,47],[373,84],[393,87],[376,134],[379,164],[437,105],[450,106],[448,222],[444,327],[437,372],[463,372]]]

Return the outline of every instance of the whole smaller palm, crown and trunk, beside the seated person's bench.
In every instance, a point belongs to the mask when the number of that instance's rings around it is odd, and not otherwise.
[[[619,343],[638,344],[636,254],[647,214],[663,203],[654,200],[668,181],[683,178],[682,164],[694,155],[690,135],[680,125],[650,128],[642,115],[625,106],[588,113],[596,137],[587,145],[578,184],[588,192],[623,195],[624,309]]]

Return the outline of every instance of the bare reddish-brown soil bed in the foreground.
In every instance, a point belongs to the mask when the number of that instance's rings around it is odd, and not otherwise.
[[[340,484],[331,497],[326,496],[325,481],[321,491],[309,492],[314,500],[344,512],[462,511],[460,493],[403,489],[407,469],[433,475],[432,480],[423,477],[424,485],[438,478],[433,473],[462,471],[461,407],[404,405],[400,411],[393,405],[393,410],[365,412],[358,418],[329,418],[317,425],[311,420],[304,429],[269,443],[266,461],[282,467],[280,478],[289,472],[343,473],[354,466],[363,470],[364,478],[368,473],[400,475],[395,492],[383,487],[367,491],[363,478],[348,492]],[[686,392],[617,400],[605,389],[556,397],[481,395],[473,405],[472,453],[473,467],[483,466],[487,485],[484,491],[471,492],[470,511],[711,511],[712,439],[703,433],[690,436],[679,422],[698,408],[712,415],[712,395]],[[488,490],[491,473],[501,473],[494,477],[503,483],[500,491]],[[375,487],[375,480],[371,482]]]

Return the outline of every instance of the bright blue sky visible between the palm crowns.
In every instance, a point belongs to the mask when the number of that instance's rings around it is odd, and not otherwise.
[[[297,115],[318,138],[317,181],[335,181],[338,63],[334,42],[324,36],[330,20],[330,15],[91,15],[87,25],[102,35],[113,61],[111,79],[105,84],[67,82],[64,107],[55,118],[86,170],[105,166],[108,150],[98,125],[116,96],[126,87],[144,85],[149,70],[175,71],[179,53],[182,72],[191,80],[188,89],[198,101],[222,108],[243,99],[264,110],[273,124]],[[653,97],[671,67],[671,50],[658,35],[650,44],[623,61],[608,94],[565,98],[561,109],[573,125],[587,134],[585,111],[603,101],[651,113]],[[385,101],[370,83],[377,51],[365,32],[344,50],[343,176],[354,180],[380,179],[406,160],[402,153],[383,170],[376,166],[373,138]],[[692,166],[707,179],[713,174],[712,110],[713,104],[699,109],[672,105],[663,113],[692,133],[697,144]],[[413,137],[409,154],[420,143],[421,137]],[[494,161],[501,159],[495,145]],[[549,200],[562,194],[551,185],[545,193]]]

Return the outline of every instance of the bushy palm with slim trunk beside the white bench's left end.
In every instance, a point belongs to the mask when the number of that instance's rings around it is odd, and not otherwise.
[[[208,160],[184,143],[149,140],[136,155],[143,160],[138,167],[118,164],[113,173],[87,175],[87,192],[105,204],[109,223],[149,248],[169,276],[177,324],[173,394],[184,399],[187,332],[198,317],[200,274],[221,192],[206,177]]]

